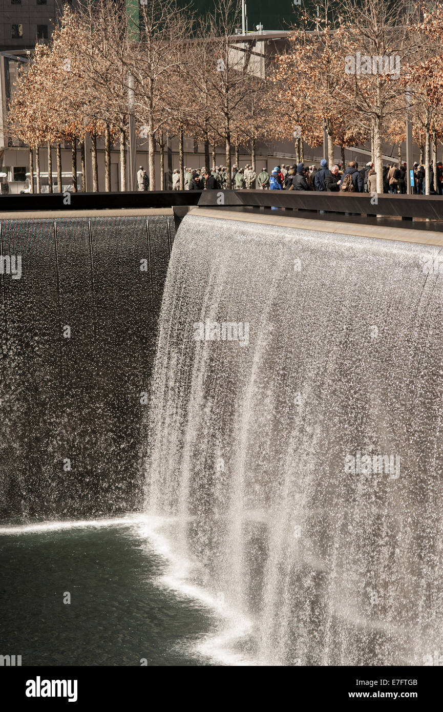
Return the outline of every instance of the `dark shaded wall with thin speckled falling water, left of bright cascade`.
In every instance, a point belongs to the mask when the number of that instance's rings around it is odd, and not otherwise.
[[[174,234],[171,210],[0,216],[0,518],[140,506]]]

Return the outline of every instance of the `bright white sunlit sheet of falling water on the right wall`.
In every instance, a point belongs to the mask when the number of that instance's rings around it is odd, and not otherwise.
[[[442,649],[438,252],[180,226],[146,511],[188,562],[189,595],[218,602],[212,639],[236,661],[422,665]]]

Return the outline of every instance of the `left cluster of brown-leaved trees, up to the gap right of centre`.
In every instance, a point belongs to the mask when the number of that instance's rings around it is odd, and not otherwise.
[[[155,189],[155,147],[161,162],[166,137],[179,137],[181,183],[184,135],[209,146],[224,146],[231,175],[231,149],[254,145],[259,134],[258,97],[262,80],[254,76],[245,53],[232,46],[239,7],[221,0],[195,29],[189,11],[175,0],[140,4],[140,26],[121,4],[88,0],[66,6],[51,43],[36,46],[30,66],[21,71],[9,107],[9,132],[36,154],[55,144],[61,172],[61,142],[92,145],[93,190],[98,190],[97,140],[105,142],[105,189],[110,190],[110,150],[120,145],[120,184],[126,189],[128,88],[134,90],[137,140],[147,143],[150,187]],[[264,136],[261,136],[264,137]],[[84,148],[83,148],[84,151]],[[82,162],[83,166],[83,162]],[[73,166],[75,177],[76,165]],[[83,167],[84,172],[84,167]],[[164,172],[160,172],[164,188]],[[60,180],[59,180],[60,182]],[[74,182],[75,183],[75,182]]]

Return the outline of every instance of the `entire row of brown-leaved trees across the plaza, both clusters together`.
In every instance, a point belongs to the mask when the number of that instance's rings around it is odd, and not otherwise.
[[[415,141],[424,150],[429,192],[429,156],[442,142],[443,8],[408,0],[323,0],[320,16],[301,14],[288,49],[266,70],[251,69],[250,42],[234,42],[241,8],[220,0],[197,19],[176,0],[144,0],[139,23],[125,4],[87,0],[66,6],[48,45],[39,44],[21,71],[9,106],[9,132],[36,157],[56,147],[61,190],[61,142],[72,146],[76,189],[80,146],[82,189],[85,136],[90,135],[93,190],[98,190],[97,141],[105,146],[105,189],[110,190],[110,151],[120,147],[120,184],[126,189],[128,88],[133,87],[138,142],[147,143],[150,188],[156,187],[155,148],[160,147],[164,189],[167,139],[178,137],[180,187],[184,182],[184,136],[204,145],[204,163],[224,147],[228,187],[231,156],[240,145],[255,162],[258,141],[295,140],[315,147],[328,135],[328,159],[340,147],[370,142],[382,192],[382,142],[405,140],[405,95]],[[388,64],[386,65],[386,60]],[[383,64],[385,62],[385,64]],[[391,63],[389,63],[391,62]],[[387,68],[387,70],[386,70]],[[435,159],[434,159],[435,162]],[[31,182],[33,185],[33,181]],[[52,190],[49,181],[49,190]]]

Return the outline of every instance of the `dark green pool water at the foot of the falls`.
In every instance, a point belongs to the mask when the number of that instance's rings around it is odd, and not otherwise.
[[[160,586],[164,570],[131,525],[0,533],[0,654],[22,666],[211,664],[192,646],[214,618]]]

